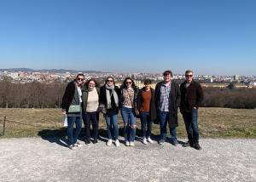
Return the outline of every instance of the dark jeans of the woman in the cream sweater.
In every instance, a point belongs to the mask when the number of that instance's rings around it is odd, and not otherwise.
[[[85,139],[90,140],[90,122],[92,124],[92,138],[97,139],[99,131],[99,121],[97,120],[96,112],[85,112],[83,117]]]

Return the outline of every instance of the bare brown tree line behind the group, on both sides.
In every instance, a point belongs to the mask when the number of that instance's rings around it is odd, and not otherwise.
[[[0,81],[2,108],[60,108],[67,82],[13,83],[8,77]],[[204,107],[236,109],[256,108],[256,88],[203,88]]]

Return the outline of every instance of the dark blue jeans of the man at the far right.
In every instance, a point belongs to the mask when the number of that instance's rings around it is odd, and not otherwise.
[[[193,109],[190,112],[183,113],[183,120],[185,122],[190,144],[198,144],[199,142],[197,117],[198,117],[198,109]]]

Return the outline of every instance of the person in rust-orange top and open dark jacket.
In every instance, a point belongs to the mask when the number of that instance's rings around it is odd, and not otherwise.
[[[150,144],[153,143],[153,140],[150,137],[152,122],[156,119],[156,110],[154,103],[154,89],[151,88],[151,80],[145,80],[144,85],[145,87],[140,89],[137,94],[137,108],[140,112],[140,119],[142,123],[143,144],[147,145],[148,142]]]

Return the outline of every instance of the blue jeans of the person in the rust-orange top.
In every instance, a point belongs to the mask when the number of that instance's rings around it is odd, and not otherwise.
[[[152,130],[152,120],[150,118],[149,112],[141,112],[141,122],[142,122],[142,134],[143,138],[151,136],[151,130]],[[146,132],[146,125],[147,125],[147,132]]]

